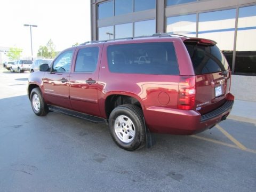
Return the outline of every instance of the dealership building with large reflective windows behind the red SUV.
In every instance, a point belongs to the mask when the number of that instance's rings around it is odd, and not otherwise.
[[[236,99],[256,101],[256,1],[91,0],[91,39],[170,33],[212,39],[233,74]]]

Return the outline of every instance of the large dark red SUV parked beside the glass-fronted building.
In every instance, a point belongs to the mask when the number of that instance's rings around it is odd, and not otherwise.
[[[62,51],[29,77],[34,113],[107,122],[135,150],[149,132],[195,134],[226,119],[230,70],[214,41],[177,35],[89,42]]]

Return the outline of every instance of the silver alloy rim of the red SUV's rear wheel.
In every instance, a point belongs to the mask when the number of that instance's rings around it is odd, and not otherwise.
[[[136,133],[132,120],[125,115],[118,116],[115,120],[115,133],[122,142],[132,142]]]

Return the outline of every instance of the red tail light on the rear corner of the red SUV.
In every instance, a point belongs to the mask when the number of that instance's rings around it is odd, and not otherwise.
[[[191,110],[195,107],[196,86],[194,76],[181,76],[178,93],[178,109]]]

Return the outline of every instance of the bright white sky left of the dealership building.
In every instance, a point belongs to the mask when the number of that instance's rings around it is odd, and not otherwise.
[[[90,0],[3,0],[0,1],[0,46],[18,47],[22,57],[33,55],[49,39],[56,51],[91,40]]]

